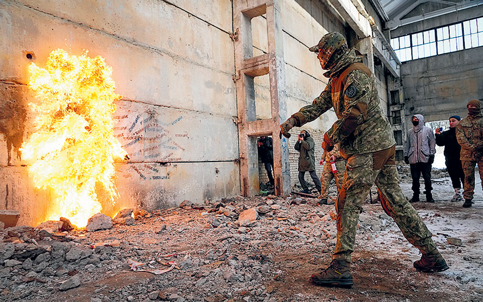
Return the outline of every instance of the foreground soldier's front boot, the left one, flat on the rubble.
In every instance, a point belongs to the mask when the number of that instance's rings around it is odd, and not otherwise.
[[[351,287],[351,263],[345,260],[333,259],[329,267],[319,273],[313,273],[310,281],[316,285]]]

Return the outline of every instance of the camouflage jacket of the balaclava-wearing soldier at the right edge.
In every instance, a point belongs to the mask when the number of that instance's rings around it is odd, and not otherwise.
[[[463,118],[456,126],[456,139],[461,146],[462,161],[483,159],[483,115]]]

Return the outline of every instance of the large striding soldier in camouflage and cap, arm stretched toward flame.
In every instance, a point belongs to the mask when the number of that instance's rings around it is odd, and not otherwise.
[[[375,182],[384,209],[392,216],[406,239],[422,252],[414,267],[421,271],[443,271],[446,262],[436,249],[431,232],[403,195],[395,166],[395,141],[391,126],[381,110],[374,75],[362,64],[362,56],[349,50],[344,36],[329,33],[310,48],[318,52],[326,89],[311,105],[302,107],[280,125],[280,135],[315,120],[330,108],[338,120],[324,134],[322,146],[332,150],[340,142],[341,156],[347,159],[342,190],[336,203],[337,244],[329,267],[310,277],[318,285],[351,286],[351,254],[356,226],[364,202]]]

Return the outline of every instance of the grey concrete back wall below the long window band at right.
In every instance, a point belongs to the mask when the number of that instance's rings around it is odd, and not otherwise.
[[[453,114],[465,117],[468,101],[483,99],[482,72],[481,47],[402,64],[407,125],[417,113],[425,121],[445,120]]]

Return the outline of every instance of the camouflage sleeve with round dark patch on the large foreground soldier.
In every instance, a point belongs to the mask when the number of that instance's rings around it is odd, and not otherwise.
[[[349,136],[367,118],[367,105],[371,98],[371,81],[362,70],[350,72],[344,86],[344,112],[327,131],[335,143]]]

